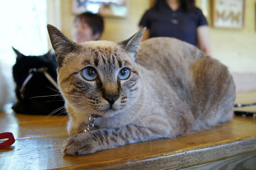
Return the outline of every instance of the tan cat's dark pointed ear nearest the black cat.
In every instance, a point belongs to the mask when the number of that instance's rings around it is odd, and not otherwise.
[[[74,51],[77,47],[76,43],[69,40],[58,28],[47,24],[47,30],[52,43],[52,48],[55,51],[55,57],[58,62],[58,66],[61,67],[65,56]]]

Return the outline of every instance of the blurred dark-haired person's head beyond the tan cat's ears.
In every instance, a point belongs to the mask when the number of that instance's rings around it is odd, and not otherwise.
[[[84,12],[77,15],[72,29],[73,40],[76,43],[99,40],[104,30],[104,21],[99,14]]]

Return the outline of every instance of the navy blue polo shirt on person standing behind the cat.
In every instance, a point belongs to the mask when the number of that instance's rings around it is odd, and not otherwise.
[[[184,12],[180,7],[176,11],[163,1],[159,8],[153,7],[145,12],[139,26],[150,29],[150,37],[175,37],[197,45],[198,26],[208,25],[199,8]]]

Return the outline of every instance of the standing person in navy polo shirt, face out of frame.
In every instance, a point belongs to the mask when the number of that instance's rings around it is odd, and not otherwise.
[[[195,0],[156,0],[139,23],[147,27],[142,40],[151,37],[175,37],[197,46],[211,55],[208,23]]]

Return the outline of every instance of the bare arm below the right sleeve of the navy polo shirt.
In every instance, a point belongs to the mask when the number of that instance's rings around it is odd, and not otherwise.
[[[197,41],[198,41],[198,48],[204,51],[205,54],[208,56],[212,56],[212,51],[210,48],[210,41],[209,41],[209,29],[208,26],[199,26],[197,28]]]

